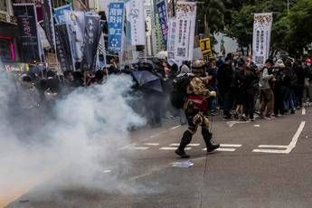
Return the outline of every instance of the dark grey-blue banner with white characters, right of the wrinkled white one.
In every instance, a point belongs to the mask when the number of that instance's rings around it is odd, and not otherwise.
[[[84,30],[84,46],[81,68],[94,71],[96,67],[96,55],[98,52],[99,38],[102,33],[99,24],[99,15],[86,14]]]

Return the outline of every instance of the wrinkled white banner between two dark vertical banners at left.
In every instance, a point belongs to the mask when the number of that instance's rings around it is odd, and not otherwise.
[[[64,14],[67,33],[70,37],[72,62],[76,69],[76,63],[82,61],[85,15],[83,12],[77,11],[65,11]]]

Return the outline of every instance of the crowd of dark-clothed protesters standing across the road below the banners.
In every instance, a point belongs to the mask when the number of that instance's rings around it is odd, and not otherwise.
[[[149,71],[161,83],[162,90],[152,90],[135,85],[132,89],[136,101],[131,103],[137,113],[147,117],[151,127],[160,127],[162,120],[180,118],[186,120],[182,109],[175,109],[169,99],[173,81],[178,74],[191,73],[192,66],[184,61],[178,67],[173,60],[145,60],[119,70],[114,62],[100,71],[28,71],[16,81],[21,109],[32,114],[38,108],[49,111],[56,99],[80,87],[98,85],[112,74],[129,74],[133,71]],[[228,54],[207,62],[202,77],[210,90],[217,91],[217,98],[209,100],[209,115],[223,114],[223,119],[251,120],[272,119],[294,114],[304,105],[312,104],[311,60],[267,60],[263,67],[255,65],[248,57]],[[142,108],[144,107],[144,108]]]

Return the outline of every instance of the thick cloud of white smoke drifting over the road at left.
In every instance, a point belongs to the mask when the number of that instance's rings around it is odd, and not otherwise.
[[[53,109],[21,112],[14,81],[0,74],[0,201],[60,171],[70,175],[61,186],[101,188],[95,180],[107,162],[127,167],[117,148],[128,144],[130,126],[146,122],[128,106],[132,84],[129,76],[111,76],[103,85],[74,90]]]

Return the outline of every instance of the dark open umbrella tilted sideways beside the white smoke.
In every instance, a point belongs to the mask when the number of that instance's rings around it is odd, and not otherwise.
[[[149,71],[133,71],[133,77],[142,89],[156,90],[163,92],[159,78]]]

